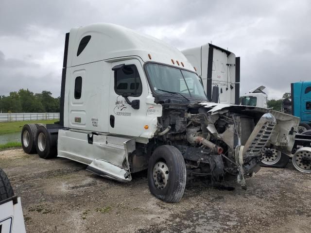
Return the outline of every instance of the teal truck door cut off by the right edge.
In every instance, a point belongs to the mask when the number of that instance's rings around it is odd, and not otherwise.
[[[301,121],[311,122],[311,83],[304,82],[301,88]]]

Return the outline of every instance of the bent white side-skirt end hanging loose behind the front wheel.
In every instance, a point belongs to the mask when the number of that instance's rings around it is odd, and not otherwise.
[[[132,180],[128,155],[135,151],[135,139],[130,139],[123,142],[125,161],[124,167],[119,167],[109,163],[103,159],[94,159],[93,162],[86,167],[86,170],[105,178],[117,180],[120,182],[130,182]]]

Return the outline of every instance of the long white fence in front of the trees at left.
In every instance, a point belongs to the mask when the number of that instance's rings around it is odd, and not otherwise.
[[[59,113],[1,113],[0,122],[59,119]]]

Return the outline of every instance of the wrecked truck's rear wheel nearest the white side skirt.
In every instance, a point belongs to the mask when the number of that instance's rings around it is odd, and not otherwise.
[[[57,134],[50,134],[45,126],[39,126],[35,139],[35,147],[42,159],[56,157]]]

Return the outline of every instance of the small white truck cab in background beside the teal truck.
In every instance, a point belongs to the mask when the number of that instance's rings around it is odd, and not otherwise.
[[[241,105],[268,108],[268,96],[263,92],[265,86],[259,86],[249,91],[241,98]]]

